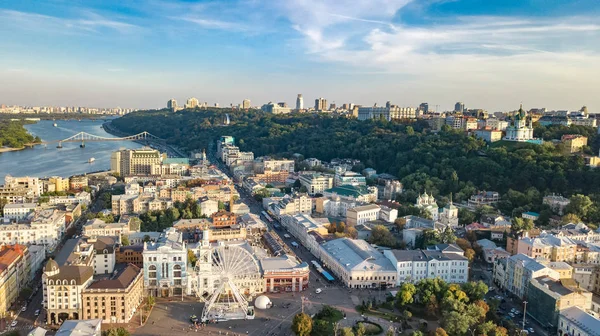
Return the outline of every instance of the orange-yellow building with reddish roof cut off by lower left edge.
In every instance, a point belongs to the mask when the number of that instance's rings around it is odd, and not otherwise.
[[[0,317],[5,317],[29,280],[27,247],[4,246],[0,251]]]

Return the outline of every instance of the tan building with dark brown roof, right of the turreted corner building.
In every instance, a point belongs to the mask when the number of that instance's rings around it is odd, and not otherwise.
[[[142,269],[128,264],[109,278],[92,282],[81,293],[84,319],[129,323],[144,299]]]

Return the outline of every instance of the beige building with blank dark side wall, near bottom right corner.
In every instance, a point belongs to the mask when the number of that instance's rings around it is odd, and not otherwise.
[[[569,280],[548,276],[531,279],[527,291],[527,312],[542,326],[556,328],[560,311],[570,307],[592,308],[592,293]]]

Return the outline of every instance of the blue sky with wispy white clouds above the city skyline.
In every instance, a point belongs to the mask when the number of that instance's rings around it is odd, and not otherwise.
[[[600,112],[598,0],[0,0],[0,104]]]

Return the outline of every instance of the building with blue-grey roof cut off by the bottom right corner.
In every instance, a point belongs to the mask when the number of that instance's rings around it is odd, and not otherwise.
[[[600,336],[600,319],[579,307],[562,310],[558,317],[559,336]]]

